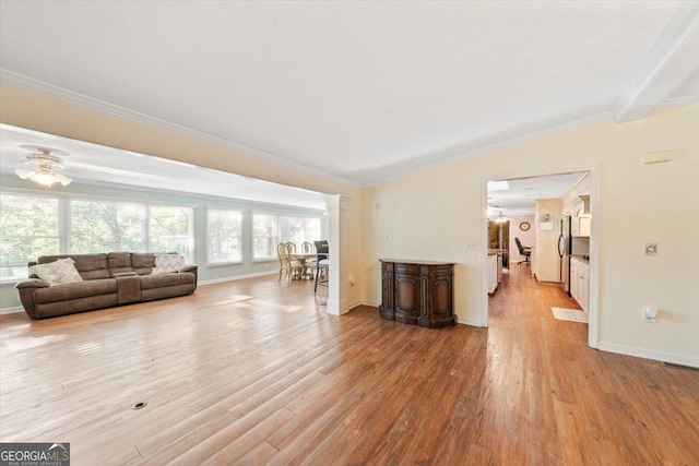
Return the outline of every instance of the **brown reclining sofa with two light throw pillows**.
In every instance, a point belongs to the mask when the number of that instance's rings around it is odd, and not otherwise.
[[[46,319],[135,302],[191,295],[197,289],[197,265],[179,272],[152,274],[154,253],[43,255],[28,265],[71,258],[83,282],[49,286],[29,277],[16,285],[24,310],[32,319]]]

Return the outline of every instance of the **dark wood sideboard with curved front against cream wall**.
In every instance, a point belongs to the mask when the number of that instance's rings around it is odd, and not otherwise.
[[[453,274],[449,262],[381,259],[381,316],[428,328],[455,324]]]

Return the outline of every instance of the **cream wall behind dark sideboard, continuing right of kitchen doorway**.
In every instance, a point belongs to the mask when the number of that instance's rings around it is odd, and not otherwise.
[[[677,159],[641,164],[644,153],[660,151]],[[593,166],[599,167],[599,270],[592,273],[600,284],[600,348],[699,366],[696,106],[624,124],[600,122],[365,190],[367,301],[380,301],[379,258],[454,261],[459,322],[482,324],[483,251],[466,243],[486,239],[486,180]],[[657,242],[660,254],[644,256],[645,242]],[[661,310],[656,325],[642,321],[648,306]]]

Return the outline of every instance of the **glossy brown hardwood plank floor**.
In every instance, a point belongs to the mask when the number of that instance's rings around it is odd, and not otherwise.
[[[271,276],[3,315],[0,441],[70,442],[73,465],[699,464],[699,371],[590,349],[528,266],[488,328],[336,318],[325,296]]]

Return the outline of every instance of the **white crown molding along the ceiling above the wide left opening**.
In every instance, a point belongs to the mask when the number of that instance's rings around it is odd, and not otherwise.
[[[286,160],[276,155],[269,154],[266,152],[258,151],[252,147],[245,146],[232,141],[224,140],[222,138],[213,136],[211,134],[203,133],[201,131],[192,130],[180,124],[171,123],[169,121],[161,120],[134,110],[130,110],[118,105],[114,105],[104,100],[99,100],[73,91],[66,89],[63,87],[55,86],[52,84],[35,80],[33,77],[25,76],[23,74],[15,73],[5,69],[0,69],[0,84],[16,87],[21,91],[26,91],[33,94],[40,95],[54,100],[60,100],[78,107],[83,107],[90,110],[95,110],[102,113],[110,115],[112,117],[120,118],[135,122],[138,124],[154,128],[161,131],[165,131],[177,136],[181,136],[188,140],[198,141],[204,144],[209,144],[214,147],[220,147],[226,151],[235,152],[248,157],[269,162],[285,168],[291,168],[304,174],[311,175],[313,177],[322,178],[329,181],[333,181],[340,184],[350,186],[352,188],[362,188],[362,184],[347,180],[342,177],[337,177],[325,171],[318,170],[316,168],[308,167],[306,165],[296,164],[294,162]]]

